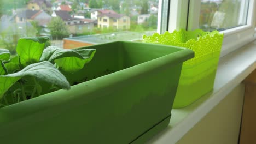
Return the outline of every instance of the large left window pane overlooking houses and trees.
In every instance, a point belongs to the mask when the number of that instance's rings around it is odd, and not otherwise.
[[[157,17],[158,4],[159,0],[0,0],[0,48],[15,52],[19,38],[41,35],[66,49],[138,40],[156,32],[157,19],[138,22],[138,17]]]

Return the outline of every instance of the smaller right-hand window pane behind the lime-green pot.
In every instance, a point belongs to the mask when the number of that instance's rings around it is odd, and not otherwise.
[[[199,27],[205,31],[246,25],[248,0],[201,0]]]

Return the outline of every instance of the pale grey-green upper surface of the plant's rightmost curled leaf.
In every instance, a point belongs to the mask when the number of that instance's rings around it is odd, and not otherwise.
[[[80,59],[84,59],[84,57],[74,49],[61,49],[57,46],[48,46],[44,49],[40,61],[54,62],[55,59],[63,57],[78,57]]]

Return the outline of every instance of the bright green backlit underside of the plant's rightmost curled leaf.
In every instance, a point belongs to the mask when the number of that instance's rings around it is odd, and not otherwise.
[[[95,49],[79,49],[75,51],[80,53],[84,59],[77,57],[63,57],[56,59],[55,63],[59,66],[60,69],[69,73],[74,73],[75,71],[82,69],[86,63],[89,63],[96,52]]]

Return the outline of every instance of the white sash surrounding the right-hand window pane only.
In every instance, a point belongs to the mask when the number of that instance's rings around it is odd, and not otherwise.
[[[241,3],[241,7],[243,8],[241,9],[241,13],[240,13],[240,15],[242,15],[241,16],[242,18],[240,19],[240,21],[243,21],[243,19],[247,18],[246,25],[220,31],[221,33],[224,33],[222,53],[220,57],[225,56],[228,53],[240,48],[241,46],[255,40],[256,37],[254,37],[254,32],[255,32],[254,29],[255,29],[255,23],[256,23],[256,20],[255,20],[256,18],[255,3],[256,2],[255,0],[249,0],[248,3],[246,3],[243,0],[243,2]],[[248,5],[248,13],[245,14],[243,13],[242,10],[245,10],[245,8],[247,8],[247,5]],[[189,1],[188,26],[187,26],[188,30],[199,28],[200,8],[201,8],[201,0]],[[176,28],[178,28],[178,25],[176,26]]]

